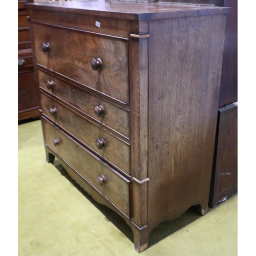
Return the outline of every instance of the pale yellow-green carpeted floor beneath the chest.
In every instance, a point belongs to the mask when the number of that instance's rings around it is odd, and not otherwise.
[[[201,217],[165,221],[140,255],[237,255],[237,196]],[[18,255],[139,255],[115,212],[83,192],[58,163],[46,163],[40,120],[18,126]]]

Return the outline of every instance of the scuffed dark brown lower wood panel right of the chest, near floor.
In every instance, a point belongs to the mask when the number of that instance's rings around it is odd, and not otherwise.
[[[218,112],[216,155],[209,203],[216,207],[238,191],[238,103]]]

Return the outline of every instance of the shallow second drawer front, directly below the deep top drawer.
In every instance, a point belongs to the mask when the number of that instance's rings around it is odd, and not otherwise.
[[[73,105],[75,108],[91,116],[96,121],[110,127],[119,134],[122,134],[126,138],[130,138],[129,111],[121,109],[109,101],[103,100],[94,94],[72,86],[63,80],[40,70],[38,70],[38,81],[41,88],[44,88],[56,97]],[[47,81],[54,82],[54,86],[51,89],[47,88]],[[103,106],[104,115],[98,117],[94,113],[94,108],[99,105]]]

